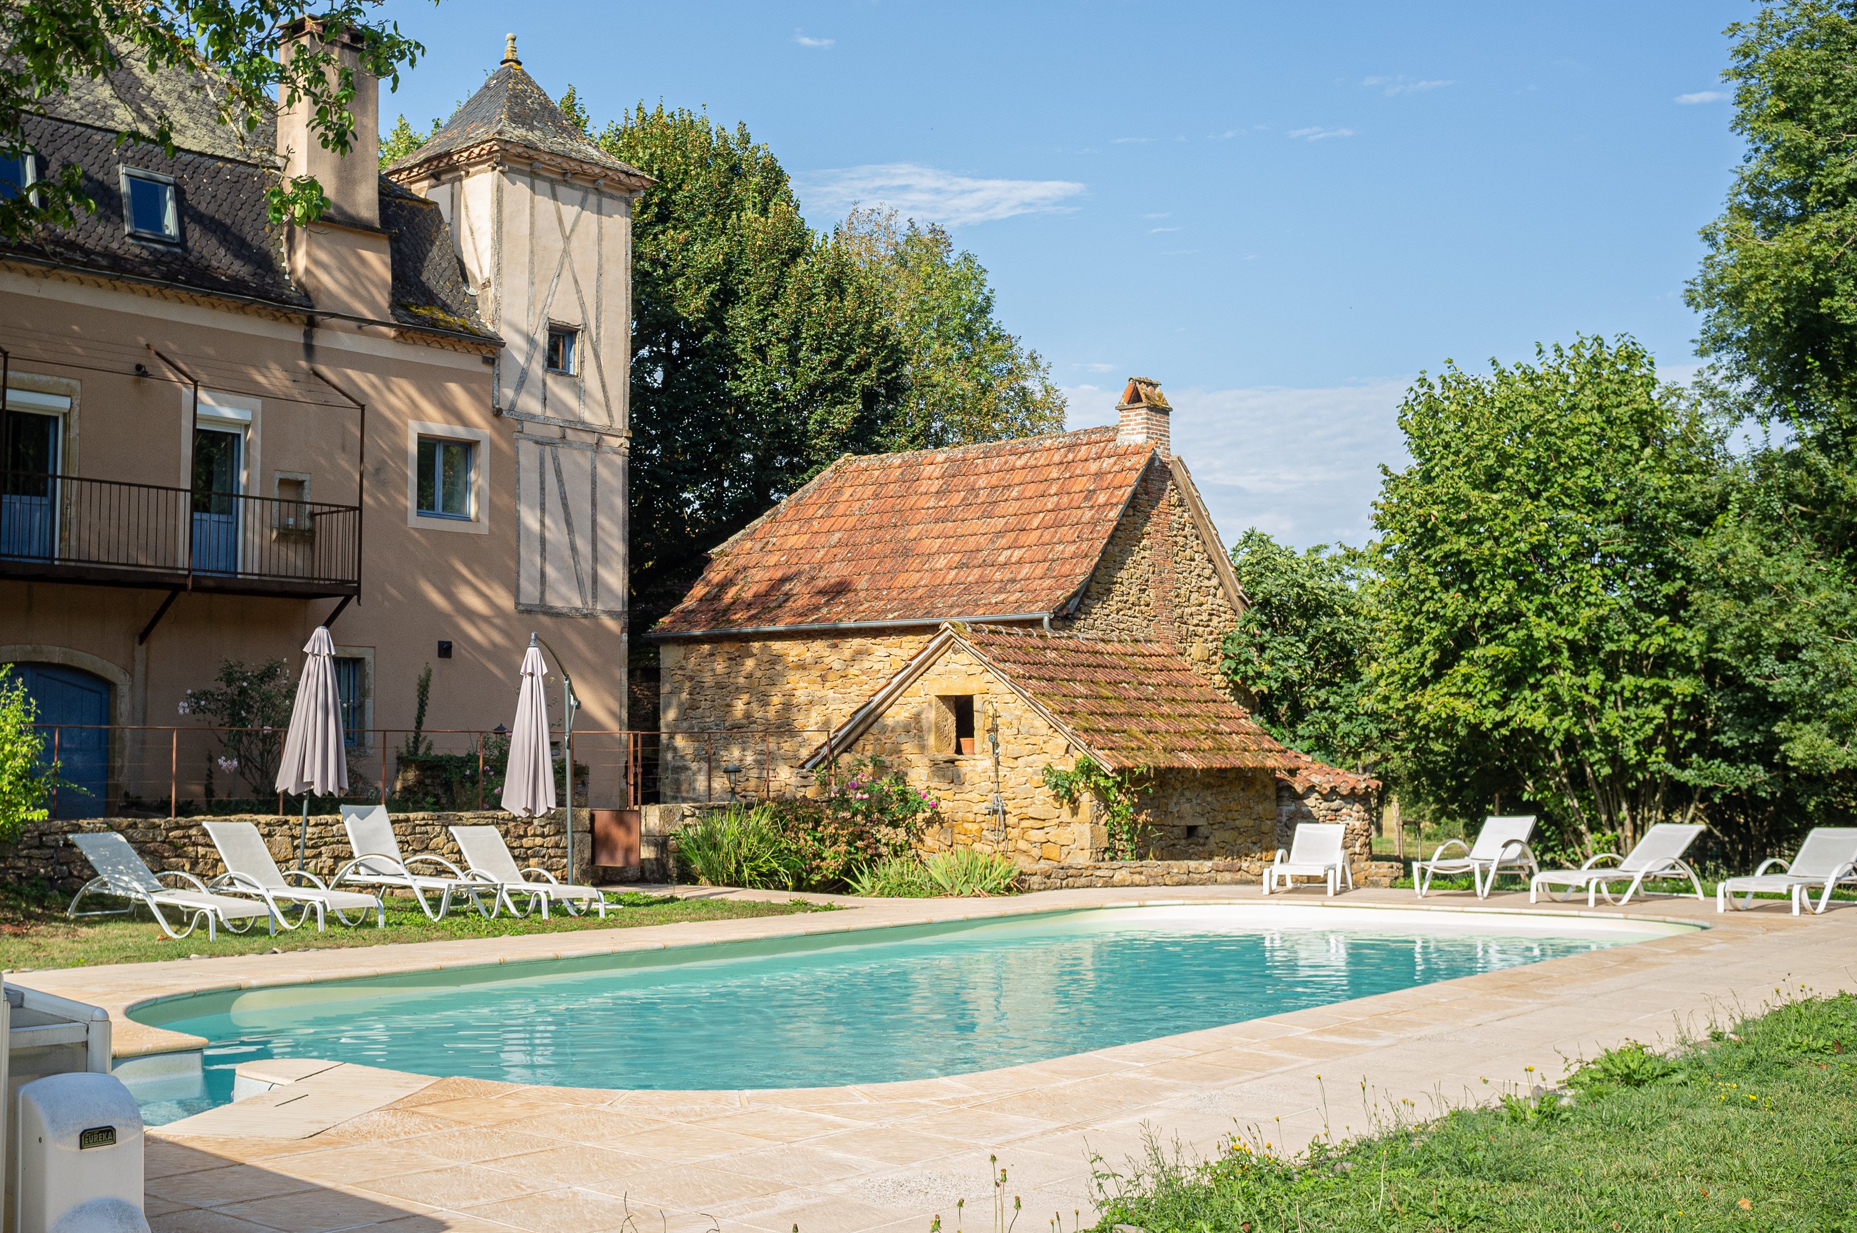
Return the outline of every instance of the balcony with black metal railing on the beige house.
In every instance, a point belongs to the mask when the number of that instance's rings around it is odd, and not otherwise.
[[[360,507],[0,472],[0,579],[360,592]]]

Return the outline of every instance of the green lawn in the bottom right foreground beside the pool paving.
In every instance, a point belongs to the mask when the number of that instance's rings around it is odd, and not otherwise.
[[[1369,1083],[1372,1075],[1369,1075]],[[1508,1094],[1281,1159],[1103,1174],[1101,1229],[1857,1231],[1857,997],[1801,999],[1669,1057],[1601,1055],[1567,1097]],[[1337,1118],[1339,1120],[1339,1118]]]

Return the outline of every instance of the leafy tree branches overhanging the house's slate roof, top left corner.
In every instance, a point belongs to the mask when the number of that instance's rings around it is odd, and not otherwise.
[[[355,37],[360,67],[399,87],[401,67],[412,67],[425,48],[399,33],[392,20],[370,20],[381,0],[11,0],[0,4],[0,156],[32,152],[24,117],[41,98],[74,82],[97,80],[136,63],[149,72],[210,78],[219,123],[253,132],[266,115],[308,100],[310,128],[325,149],[347,154],[355,141],[355,74],[342,67],[331,43]],[[319,11],[312,11],[319,9]],[[292,45],[284,39],[312,22],[323,39]],[[156,145],[175,152],[173,121],[156,115],[152,132],[121,130],[117,143]],[[69,227],[76,210],[95,212],[76,165],[45,167],[32,193],[0,199],[0,236],[20,240],[37,227]],[[321,217],[329,201],[314,176],[269,188],[271,219],[299,223]]]

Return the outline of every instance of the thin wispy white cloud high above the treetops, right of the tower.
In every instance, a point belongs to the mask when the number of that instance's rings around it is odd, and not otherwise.
[[[795,176],[800,201],[826,214],[854,204],[891,208],[923,223],[971,227],[1019,214],[1070,214],[1084,191],[1073,180],[980,180],[919,163],[875,163]]]

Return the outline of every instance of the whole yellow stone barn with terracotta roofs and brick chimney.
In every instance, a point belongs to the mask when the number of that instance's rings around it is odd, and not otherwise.
[[[1220,672],[1244,592],[1170,451],[1159,384],[1131,377],[1118,414],[847,455],[719,546],[646,635],[661,800],[812,791],[830,735],[834,752],[897,756],[945,789],[938,843],[1086,865],[1105,852],[1099,819],[1042,787],[1045,765],[1086,752],[1153,769],[1157,856],[1255,871],[1294,759]]]

